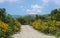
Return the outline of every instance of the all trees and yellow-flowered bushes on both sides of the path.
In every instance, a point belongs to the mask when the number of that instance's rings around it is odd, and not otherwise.
[[[10,35],[20,31],[20,26],[31,25],[34,29],[60,36],[60,9],[54,9],[46,15],[27,15],[13,18],[6,14],[6,9],[0,8],[0,38],[9,38]]]

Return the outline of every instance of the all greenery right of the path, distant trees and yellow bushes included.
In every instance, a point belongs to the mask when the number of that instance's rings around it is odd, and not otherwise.
[[[17,20],[24,25],[30,24],[40,32],[60,36],[60,9],[54,9],[46,15],[18,17]]]

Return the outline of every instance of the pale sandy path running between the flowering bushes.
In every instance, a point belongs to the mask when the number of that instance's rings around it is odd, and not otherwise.
[[[22,25],[21,32],[12,36],[13,38],[55,38],[34,30],[29,25]]]

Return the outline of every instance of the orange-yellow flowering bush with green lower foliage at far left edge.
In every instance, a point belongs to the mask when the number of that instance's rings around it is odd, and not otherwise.
[[[3,37],[3,38],[6,37],[6,34],[7,34],[8,30],[9,30],[9,27],[10,26],[8,24],[0,21],[0,38],[1,37]]]

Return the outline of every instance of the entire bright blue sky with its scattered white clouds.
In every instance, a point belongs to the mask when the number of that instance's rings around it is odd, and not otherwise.
[[[60,0],[0,0],[0,8],[11,15],[49,14],[60,8]]]

